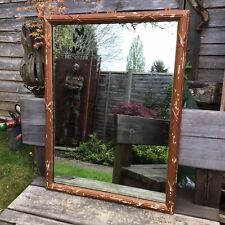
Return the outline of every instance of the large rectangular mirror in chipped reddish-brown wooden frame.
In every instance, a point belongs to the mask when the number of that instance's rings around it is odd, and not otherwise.
[[[187,12],[45,20],[47,188],[173,212]]]

